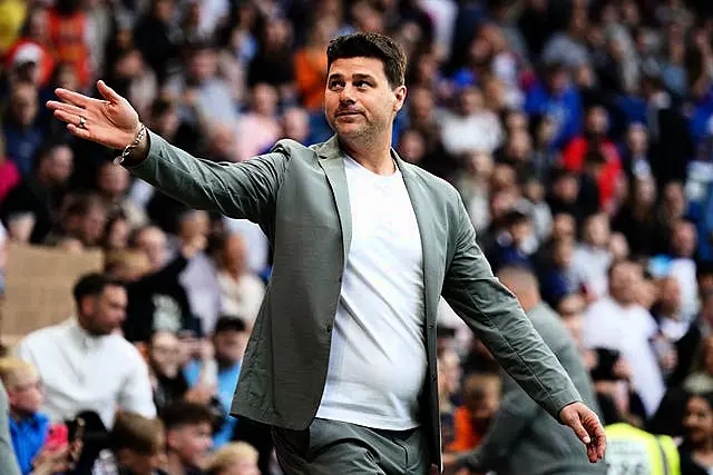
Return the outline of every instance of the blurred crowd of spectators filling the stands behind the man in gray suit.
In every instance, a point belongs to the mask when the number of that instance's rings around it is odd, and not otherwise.
[[[105,253],[77,315],[0,364],[11,410],[32,416],[14,433],[87,412],[114,451],[96,451],[95,473],[164,449],[169,475],[211,457],[247,462],[208,473],[279,473],[270,432],[227,416],[270,279],[264,235],[131,179],[43,103],[102,78],[173,145],[240,162],[328,139],[326,44],[378,31],[410,63],[400,157],[458,188],[494,270],[535,273],[605,423],[676,436],[713,473],[711,13],[705,0],[0,0],[0,238]],[[445,304],[440,318],[443,448],[460,452],[497,412],[499,377]],[[27,437],[23,473],[45,445]]]

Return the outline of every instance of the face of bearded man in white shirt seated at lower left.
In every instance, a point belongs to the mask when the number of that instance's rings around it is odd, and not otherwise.
[[[96,336],[109,335],[121,327],[126,317],[126,289],[107,286],[104,293],[82,301],[85,329]]]

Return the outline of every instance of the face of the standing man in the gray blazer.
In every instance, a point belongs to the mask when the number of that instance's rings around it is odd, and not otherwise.
[[[389,85],[377,58],[335,60],[329,70],[324,113],[343,138],[360,138],[390,130],[403,106],[406,87]]]

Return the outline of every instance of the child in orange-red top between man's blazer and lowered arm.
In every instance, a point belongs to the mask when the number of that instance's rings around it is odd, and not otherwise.
[[[500,407],[500,376],[472,374],[463,384],[463,405],[456,409],[456,439],[448,452],[465,452],[477,447]]]

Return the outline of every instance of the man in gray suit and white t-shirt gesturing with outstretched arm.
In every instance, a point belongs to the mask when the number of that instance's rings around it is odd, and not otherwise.
[[[335,131],[241,164],[196,159],[105,100],[59,89],[70,132],[121,149],[131,172],[198,208],[261,226],[274,251],[232,414],[273,427],[286,474],[424,474],[441,465],[436,314],[442,296],[589,459],[605,434],[517,300],[494,276],[453,187],[391,149],[406,56],[355,33],[328,48]]]

